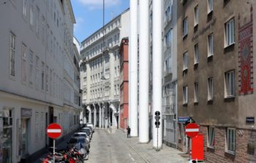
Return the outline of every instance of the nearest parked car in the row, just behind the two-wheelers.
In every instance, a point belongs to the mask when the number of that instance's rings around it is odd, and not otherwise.
[[[89,143],[85,137],[71,137],[69,142],[67,142],[67,148],[75,147],[78,151],[83,151],[81,148],[84,148],[86,153],[89,153]],[[83,154],[86,154],[83,153]]]

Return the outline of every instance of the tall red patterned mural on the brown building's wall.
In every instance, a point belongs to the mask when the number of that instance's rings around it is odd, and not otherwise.
[[[250,20],[240,25],[238,15],[238,83],[239,95],[253,94],[253,20],[252,6]]]

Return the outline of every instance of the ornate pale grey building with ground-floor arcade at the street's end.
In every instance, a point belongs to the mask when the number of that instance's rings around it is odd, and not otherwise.
[[[94,126],[118,127],[120,87],[118,49],[121,38],[128,36],[128,29],[129,10],[126,10],[81,43],[83,110],[87,122],[93,123]]]

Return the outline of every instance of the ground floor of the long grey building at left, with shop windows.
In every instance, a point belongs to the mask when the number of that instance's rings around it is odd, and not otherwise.
[[[48,148],[48,124],[61,124],[63,134],[79,126],[79,110],[0,93],[0,162],[31,159]]]

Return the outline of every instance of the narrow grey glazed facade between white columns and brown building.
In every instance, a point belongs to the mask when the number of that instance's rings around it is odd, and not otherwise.
[[[163,1],[162,123],[163,141],[177,147],[177,7],[179,1]]]

